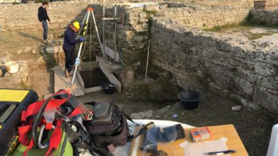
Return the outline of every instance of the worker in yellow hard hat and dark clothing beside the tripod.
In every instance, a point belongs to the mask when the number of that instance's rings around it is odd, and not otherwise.
[[[76,47],[76,43],[83,42],[85,38],[80,37],[76,39],[76,33],[80,29],[80,23],[73,22],[65,31],[63,38],[63,52],[65,52],[66,62],[65,68],[63,68],[63,73],[65,77],[68,77],[71,73],[71,69],[73,69],[73,65],[79,65],[80,60],[76,58],[74,54],[74,48]]]

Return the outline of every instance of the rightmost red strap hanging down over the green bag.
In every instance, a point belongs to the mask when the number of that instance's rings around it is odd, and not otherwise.
[[[62,138],[62,129],[61,129],[62,121],[57,121],[57,125],[55,130],[53,131],[50,140],[49,140],[49,147],[48,151],[46,152],[46,155],[49,155],[50,152],[54,149],[57,150],[58,146],[61,143]],[[53,155],[53,153],[51,154]]]

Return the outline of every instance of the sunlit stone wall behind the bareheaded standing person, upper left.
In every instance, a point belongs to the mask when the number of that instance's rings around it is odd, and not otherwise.
[[[48,16],[51,29],[63,29],[73,20],[82,20],[88,2],[60,1],[50,3]],[[38,30],[38,7],[41,4],[0,4],[0,23],[3,30]]]

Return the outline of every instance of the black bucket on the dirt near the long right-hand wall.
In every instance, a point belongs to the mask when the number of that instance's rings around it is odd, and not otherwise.
[[[177,99],[180,100],[183,108],[187,110],[192,110],[199,106],[200,95],[197,91],[182,91],[179,94],[177,94]]]

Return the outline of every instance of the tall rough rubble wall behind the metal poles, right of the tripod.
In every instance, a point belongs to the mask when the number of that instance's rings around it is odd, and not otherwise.
[[[96,15],[103,14],[101,5],[94,6]],[[105,17],[113,18],[114,7],[105,9]],[[123,55],[123,60],[127,65],[133,65],[138,61],[145,61],[146,53],[148,52],[149,26],[147,13],[142,7],[128,8],[125,6],[117,7],[117,33],[116,45],[117,50]],[[98,31],[101,35],[103,32],[103,23],[101,18],[96,18]],[[105,45],[113,49],[113,33],[114,22],[105,21]]]

